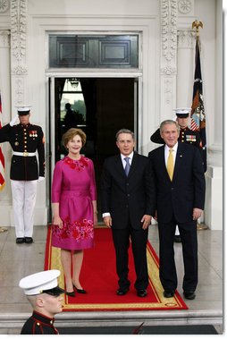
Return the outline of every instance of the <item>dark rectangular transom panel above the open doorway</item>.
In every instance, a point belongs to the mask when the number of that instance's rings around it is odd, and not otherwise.
[[[49,35],[50,68],[138,68],[139,35]]]

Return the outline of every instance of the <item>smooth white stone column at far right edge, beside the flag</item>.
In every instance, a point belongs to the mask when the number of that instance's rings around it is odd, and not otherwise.
[[[212,230],[223,229],[223,4],[217,0],[215,45],[214,140],[208,147],[206,220]],[[226,41],[224,41],[226,42]]]

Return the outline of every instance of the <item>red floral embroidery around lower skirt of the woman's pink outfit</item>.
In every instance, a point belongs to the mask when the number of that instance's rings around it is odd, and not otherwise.
[[[70,223],[69,217],[67,217],[63,220],[63,228],[59,228],[57,225],[53,227],[53,234],[60,241],[67,238],[73,238],[75,242],[93,239],[93,221],[82,219]]]

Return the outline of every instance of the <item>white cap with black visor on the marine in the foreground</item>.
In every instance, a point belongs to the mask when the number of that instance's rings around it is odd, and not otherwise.
[[[47,293],[60,295],[64,290],[58,287],[57,277],[61,274],[58,269],[50,269],[25,276],[20,280],[19,286],[26,295]]]

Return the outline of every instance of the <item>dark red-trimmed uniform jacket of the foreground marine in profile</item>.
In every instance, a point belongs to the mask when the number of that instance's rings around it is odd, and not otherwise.
[[[34,310],[22,326],[21,335],[59,335],[54,322],[55,318],[48,318]]]

